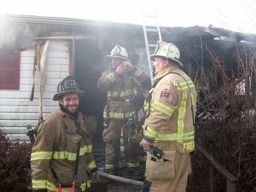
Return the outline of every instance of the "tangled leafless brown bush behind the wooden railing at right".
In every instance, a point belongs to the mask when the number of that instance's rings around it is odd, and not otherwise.
[[[198,64],[194,70],[198,88],[196,122],[201,123],[196,127],[196,142],[238,178],[237,191],[256,192],[254,54],[237,53],[238,68],[227,75],[224,62],[206,49],[212,68],[206,72]],[[198,71],[202,74],[198,75]],[[200,154],[195,156],[193,192],[208,191],[207,163]],[[214,192],[226,191],[226,179],[216,170],[213,182]]]

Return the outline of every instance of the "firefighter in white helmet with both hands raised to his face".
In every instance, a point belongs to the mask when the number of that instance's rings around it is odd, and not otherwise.
[[[107,105],[104,108],[104,130],[102,138],[106,142],[106,172],[118,174],[120,138],[123,130],[126,165],[131,174],[141,175],[138,159],[138,142],[128,142],[126,124],[129,118],[136,118],[136,101],[133,89],[149,83],[148,76],[131,64],[126,49],[116,44],[108,57],[109,70],[98,80],[98,88],[107,92]]]

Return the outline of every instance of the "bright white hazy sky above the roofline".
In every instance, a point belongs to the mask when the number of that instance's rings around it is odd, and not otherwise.
[[[216,28],[256,34],[254,8],[256,0],[6,0],[0,6],[0,14],[142,25],[143,9],[144,14],[150,15],[156,11],[159,25],[164,27],[208,27],[211,24]],[[155,19],[145,17],[145,22],[157,25]]]

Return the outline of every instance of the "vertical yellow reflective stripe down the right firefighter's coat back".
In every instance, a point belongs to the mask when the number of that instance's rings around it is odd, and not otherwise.
[[[187,92],[183,91],[182,100],[180,102],[180,106],[178,108],[178,128],[177,132],[182,133],[184,131],[184,117],[186,114],[186,100],[187,100]]]

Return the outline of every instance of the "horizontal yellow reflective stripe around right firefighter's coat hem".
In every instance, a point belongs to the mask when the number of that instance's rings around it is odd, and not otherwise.
[[[156,141],[177,141],[183,142],[185,140],[190,140],[195,137],[194,131],[187,133],[171,133],[171,134],[158,134]]]

